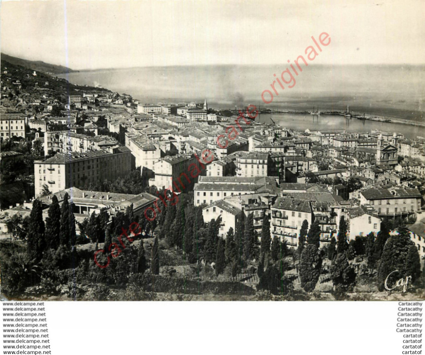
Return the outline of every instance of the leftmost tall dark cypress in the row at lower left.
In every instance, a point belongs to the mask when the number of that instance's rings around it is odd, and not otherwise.
[[[40,261],[43,257],[43,251],[45,250],[46,242],[42,205],[39,199],[35,199],[32,203],[32,210],[29,216],[30,223],[27,235],[28,256],[31,259]]]

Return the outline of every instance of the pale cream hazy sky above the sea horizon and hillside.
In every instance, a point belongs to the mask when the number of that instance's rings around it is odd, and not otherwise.
[[[1,51],[72,69],[275,64],[424,63],[423,0],[0,1]]]

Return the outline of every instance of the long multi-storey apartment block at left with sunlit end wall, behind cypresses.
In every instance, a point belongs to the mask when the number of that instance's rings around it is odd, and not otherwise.
[[[42,186],[52,193],[69,187],[83,187],[91,182],[113,181],[131,170],[131,152],[127,147],[109,151],[57,153],[43,161],[34,162],[35,196]]]

